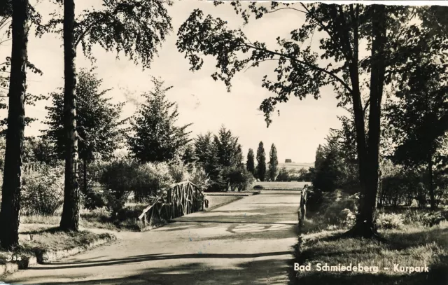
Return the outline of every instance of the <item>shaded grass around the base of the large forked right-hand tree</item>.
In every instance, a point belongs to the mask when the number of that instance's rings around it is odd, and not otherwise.
[[[306,221],[304,229],[313,229]],[[331,227],[330,227],[331,228]],[[405,224],[400,228],[380,230],[386,242],[369,239],[342,239],[345,229],[310,230],[304,233],[295,251],[300,265],[310,264],[311,270],[294,272],[295,284],[359,284],[359,285],[416,285],[448,284],[448,222],[432,228]],[[317,271],[321,265],[377,266],[378,272]],[[429,272],[395,272],[403,267],[428,266]],[[388,268],[388,270],[384,268]],[[323,267],[322,267],[323,268]],[[375,270],[372,267],[372,270]],[[409,271],[409,269],[408,269]]]

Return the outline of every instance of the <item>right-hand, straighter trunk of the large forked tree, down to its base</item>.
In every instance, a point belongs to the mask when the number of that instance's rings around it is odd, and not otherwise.
[[[386,45],[386,9],[385,6],[375,5],[372,15],[372,63],[370,73],[370,111],[369,132],[367,138],[367,155],[365,173],[361,177],[363,192],[360,197],[360,208],[356,224],[349,231],[358,237],[377,236],[375,214],[377,210],[377,194],[379,180],[379,138],[381,128],[381,99],[383,96],[384,48]],[[363,160],[363,158],[360,158]]]

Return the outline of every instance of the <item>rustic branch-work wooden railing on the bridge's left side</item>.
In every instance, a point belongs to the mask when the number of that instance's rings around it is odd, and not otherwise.
[[[202,190],[190,181],[182,181],[162,190],[143,210],[139,220],[144,225],[153,223],[154,219],[169,221],[196,211],[203,211],[204,207],[209,207],[209,201],[205,199]]]

